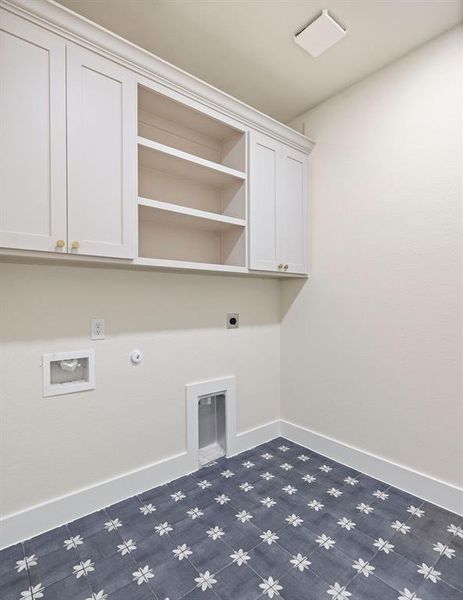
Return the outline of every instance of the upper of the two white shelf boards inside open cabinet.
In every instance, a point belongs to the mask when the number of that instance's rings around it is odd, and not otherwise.
[[[164,171],[177,177],[194,179],[216,187],[246,179],[246,173],[243,171],[231,169],[140,136],[138,148],[141,164],[156,171]]]

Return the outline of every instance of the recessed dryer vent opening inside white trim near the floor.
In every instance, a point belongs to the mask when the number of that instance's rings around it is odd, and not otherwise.
[[[198,400],[199,464],[206,465],[225,456],[225,394],[202,396]]]

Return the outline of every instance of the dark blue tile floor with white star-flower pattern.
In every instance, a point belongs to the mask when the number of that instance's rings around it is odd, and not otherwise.
[[[282,438],[0,552],[2,600],[463,600],[463,517]]]

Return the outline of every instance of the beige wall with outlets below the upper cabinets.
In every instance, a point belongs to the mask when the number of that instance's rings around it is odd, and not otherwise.
[[[187,382],[235,374],[238,431],[279,417],[274,280],[0,264],[0,287],[2,514],[183,452]],[[42,398],[42,353],[85,348],[96,390]]]

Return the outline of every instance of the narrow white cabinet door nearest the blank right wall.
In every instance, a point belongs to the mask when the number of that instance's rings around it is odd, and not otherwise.
[[[277,255],[286,273],[308,272],[308,156],[282,145]]]

